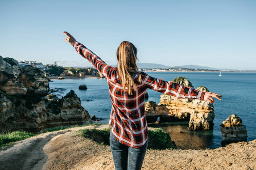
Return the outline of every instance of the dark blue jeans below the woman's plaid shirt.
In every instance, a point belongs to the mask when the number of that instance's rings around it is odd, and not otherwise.
[[[148,139],[142,147],[128,147],[117,141],[112,134],[112,131],[110,131],[109,142],[114,159],[115,170],[127,169],[127,167],[132,170],[141,169],[147,151]]]

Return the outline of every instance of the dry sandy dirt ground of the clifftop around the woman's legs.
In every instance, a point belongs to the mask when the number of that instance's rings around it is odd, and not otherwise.
[[[0,169],[114,169],[110,146],[77,135],[86,126],[41,134],[0,151]],[[256,140],[215,150],[147,150],[142,169],[256,169]]]

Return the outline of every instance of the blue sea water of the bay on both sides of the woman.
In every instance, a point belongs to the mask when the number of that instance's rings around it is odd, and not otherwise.
[[[214,126],[213,130],[189,131],[188,122],[170,122],[160,125],[149,125],[162,128],[171,135],[178,148],[201,149],[220,147],[222,134],[220,125],[230,114],[241,117],[246,126],[247,141],[256,139],[256,73],[148,73],[149,75],[163,80],[172,80],[178,76],[188,78],[194,87],[205,86],[209,91],[221,94],[222,101],[214,103]],[[79,90],[80,84],[86,84],[88,90]],[[108,86],[105,78],[81,78],[53,80],[49,83],[50,88],[64,88],[63,92],[55,92],[56,95],[64,96],[70,90],[74,90],[82,101],[82,106],[92,116],[102,118],[102,123],[108,124],[111,111],[111,102]],[[159,103],[160,93],[147,90],[148,100]]]

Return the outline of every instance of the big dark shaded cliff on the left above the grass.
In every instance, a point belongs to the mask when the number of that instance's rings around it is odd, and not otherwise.
[[[47,95],[49,79],[32,66],[21,67],[13,58],[0,57],[0,131],[40,131],[81,125],[90,116],[74,92],[63,99]]]

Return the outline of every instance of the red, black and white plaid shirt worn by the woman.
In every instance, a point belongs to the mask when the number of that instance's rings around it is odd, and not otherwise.
[[[88,59],[105,76],[112,102],[109,124],[112,126],[114,137],[126,146],[138,148],[147,141],[148,130],[144,114],[144,94],[147,88],[180,98],[204,99],[205,92],[152,78],[143,72],[140,72],[141,83],[138,81],[138,75],[134,76],[136,91],[132,88],[133,95],[128,95],[127,87],[125,87],[126,92],[123,91],[117,67],[107,65],[100,57],[79,42],[74,42],[73,46],[82,57]]]

